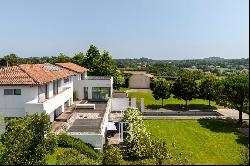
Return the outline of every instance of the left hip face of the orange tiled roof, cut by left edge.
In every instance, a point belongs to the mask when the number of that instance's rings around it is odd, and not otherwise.
[[[0,69],[0,85],[33,85],[36,82],[18,66]]]

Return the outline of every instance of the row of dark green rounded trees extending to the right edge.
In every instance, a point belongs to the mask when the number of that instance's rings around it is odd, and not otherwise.
[[[231,77],[219,79],[213,74],[197,81],[191,72],[183,72],[175,81],[159,78],[151,84],[152,94],[156,100],[168,99],[173,94],[178,100],[187,102],[200,98],[215,101],[217,104],[239,111],[239,123],[242,112],[249,113],[249,75],[238,73]]]

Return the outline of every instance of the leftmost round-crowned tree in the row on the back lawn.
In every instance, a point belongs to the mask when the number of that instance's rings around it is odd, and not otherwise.
[[[153,88],[152,93],[156,100],[161,99],[163,107],[163,100],[168,99],[171,96],[171,83],[164,78],[159,78],[155,81],[155,87]]]

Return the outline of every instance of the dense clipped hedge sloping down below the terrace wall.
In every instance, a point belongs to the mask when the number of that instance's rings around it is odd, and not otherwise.
[[[97,159],[100,155],[94,150],[90,144],[84,143],[78,138],[73,138],[66,134],[58,135],[58,147],[73,148],[78,150],[81,154],[85,154],[90,158]]]

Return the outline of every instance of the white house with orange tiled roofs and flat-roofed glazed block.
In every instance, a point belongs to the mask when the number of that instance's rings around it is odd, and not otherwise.
[[[87,69],[73,63],[5,67],[0,69],[0,112],[6,117],[46,112],[54,121],[72,105],[73,86],[79,99],[110,97],[113,78],[103,78],[87,77]]]

